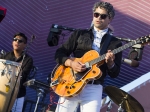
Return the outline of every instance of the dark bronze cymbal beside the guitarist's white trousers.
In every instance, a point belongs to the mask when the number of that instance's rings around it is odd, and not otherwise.
[[[131,95],[114,86],[106,86],[105,92],[110,99],[127,112],[144,112],[142,105]]]

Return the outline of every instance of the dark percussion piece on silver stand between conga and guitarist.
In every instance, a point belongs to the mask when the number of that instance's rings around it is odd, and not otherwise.
[[[45,98],[46,93],[50,92],[50,86],[43,83],[43,82],[41,82],[41,81],[37,81],[35,79],[31,79],[31,80],[25,82],[23,85],[28,86],[31,89],[34,89],[34,90],[37,91],[37,101],[36,101],[36,106],[35,106],[35,109],[34,109],[34,112],[36,112],[37,108],[38,108],[40,98],[41,97],[43,97],[43,99]]]

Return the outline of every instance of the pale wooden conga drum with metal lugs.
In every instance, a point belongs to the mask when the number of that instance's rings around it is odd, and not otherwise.
[[[0,112],[9,112],[17,97],[17,88],[20,81],[17,81],[14,91],[13,88],[19,67],[20,64],[17,62],[0,59],[0,73],[2,74],[0,77],[0,102],[3,102],[0,103]]]

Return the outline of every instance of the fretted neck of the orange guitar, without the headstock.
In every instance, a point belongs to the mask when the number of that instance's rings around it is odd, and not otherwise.
[[[134,41],[129,42],[129,43],[127,43],[127,44],[125,44],[125,45],[123,45],[121,47],[118,47],[117,49],[112,50],[112,52],[113,52],[113,54],[117,54],[117,53],[119,53],[119,52],[121,52],[121,51],[123,51],[123,50],[125,50],[125,49],[127,49],[127,48],[129,48],[129,47],[131,47],[131,46],[133,46],[135,44],[137,44],[137,43],[138,43],[138,40],[134,40]],[[100,57],[89,61],[89,65],[92,66],[93,64],[96,64],[96,63],[104,60],[105,56],[106,56],[106,54],[103,54]]]

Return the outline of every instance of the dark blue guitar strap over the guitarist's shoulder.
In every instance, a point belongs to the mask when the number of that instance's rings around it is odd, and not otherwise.
[[[100,55],[103,55],[106,53],[111,39],[112,39],[112,36],[109,33],[107,33],[107,36],[105,37],[104,43],[101,46]]]

